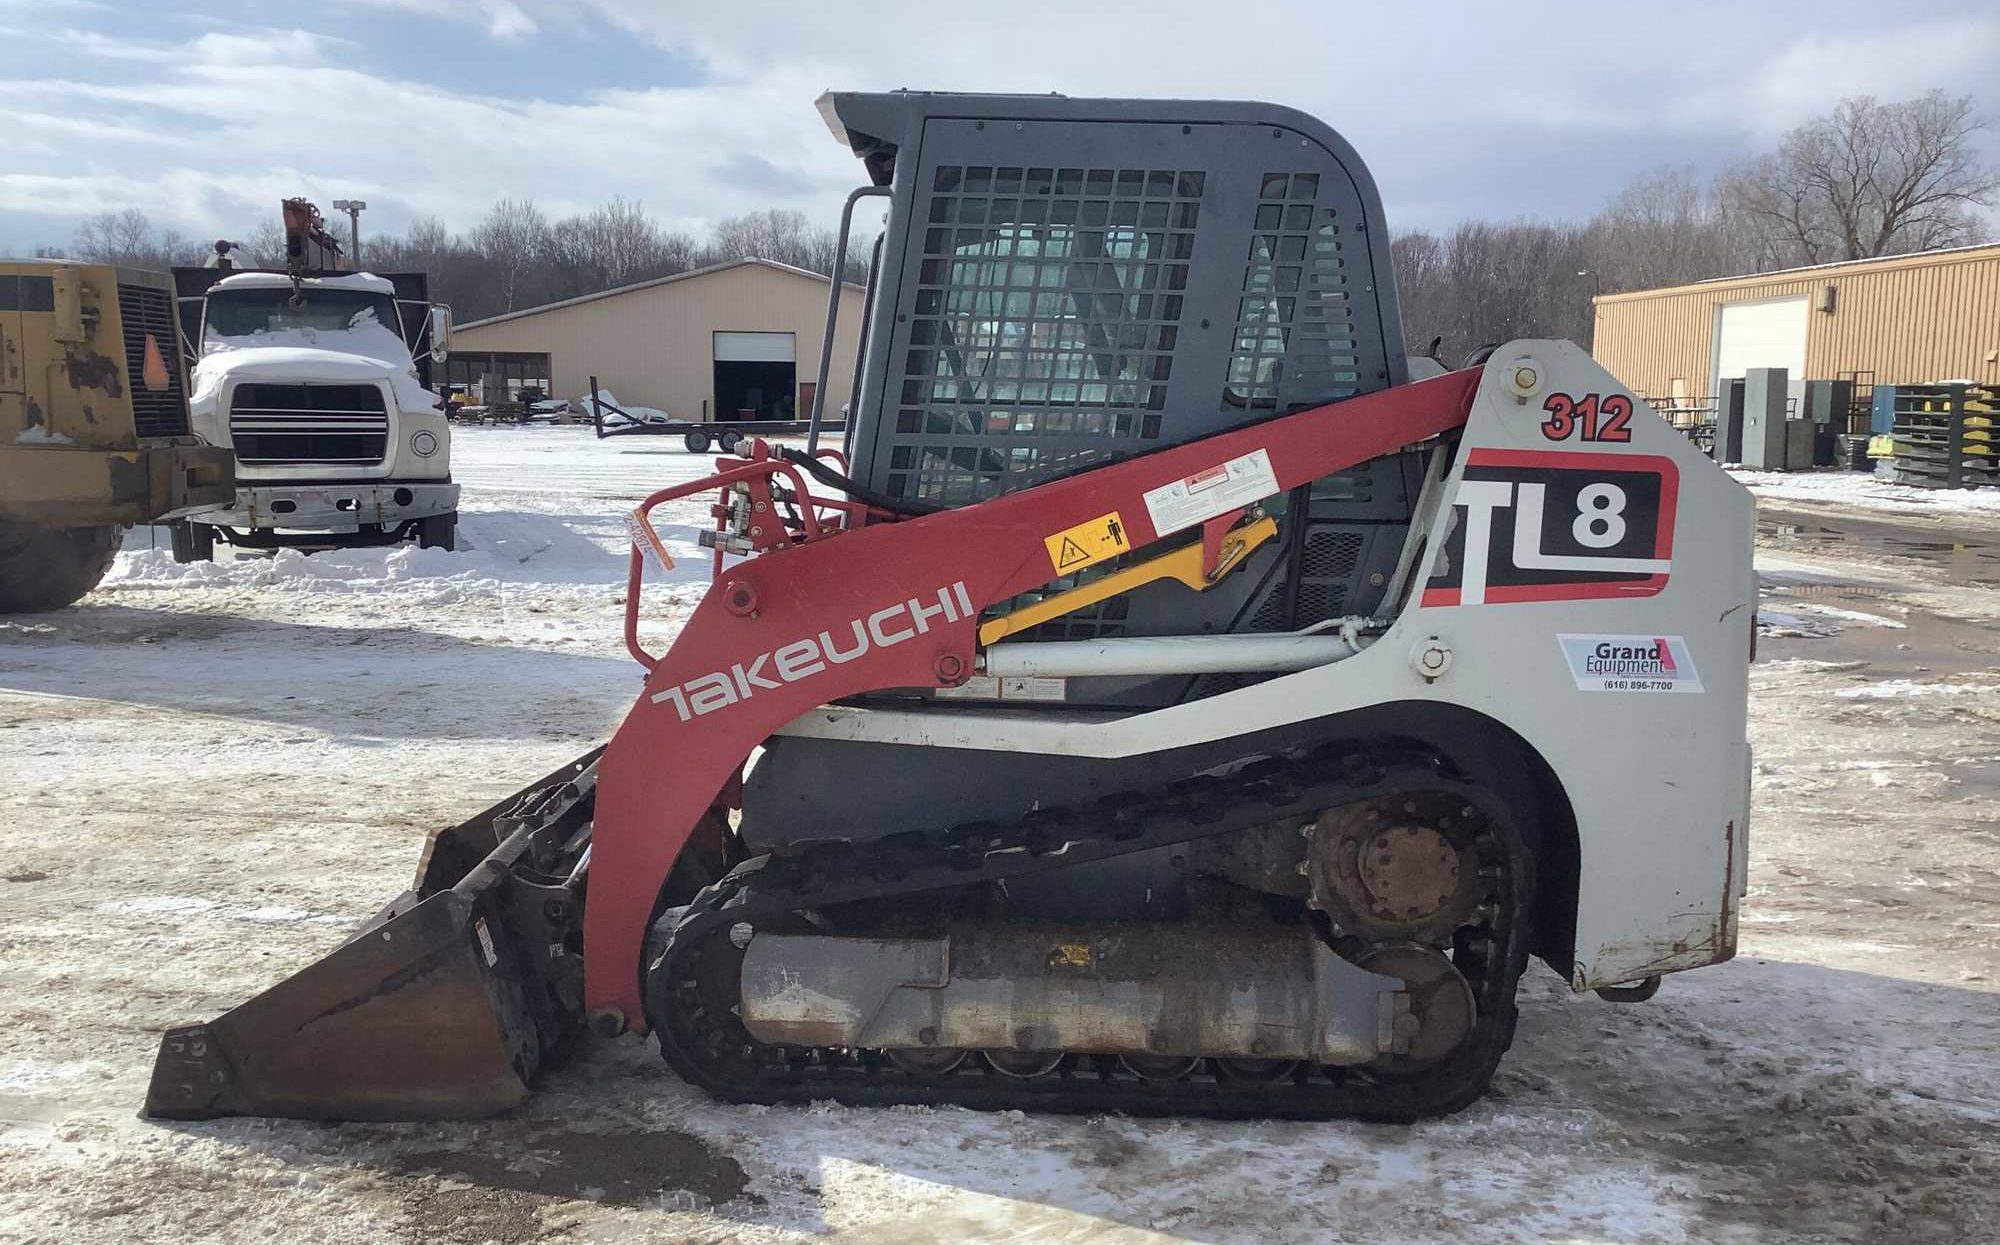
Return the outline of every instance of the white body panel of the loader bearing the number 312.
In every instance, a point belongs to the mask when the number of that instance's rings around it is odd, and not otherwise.
[[[1750,492],[1552,340],[1494,352],[1442,486],[1416,584],[1344,661],[1150,713],[824,707],[784,735],[1130,757],[1460,705],[1526,741],[1576,817],[1572,987],[1728,959],[1748,857]]]

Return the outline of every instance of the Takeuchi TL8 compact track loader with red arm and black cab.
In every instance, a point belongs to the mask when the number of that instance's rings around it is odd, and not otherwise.
[[[752,1103],[1414,1119],[1530,955],[1732,955],[1742,486],[1564,342],[1414,378],[1308,116],[820,106],[888,204],[846,452],[648,496],[610,743],[170,1031],[150,1115],[482,1115],[588,1029]],[[648,653],[686,496],[716,576]]]

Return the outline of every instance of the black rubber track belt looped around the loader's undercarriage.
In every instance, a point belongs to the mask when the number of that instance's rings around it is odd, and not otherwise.
[[[806,927],[836,905],[936,899],[1268,823],[1304,827],[1330,809],[1418,793],[1462,801],[1462,851],[1470,849],[1478,879],[1472,911],[1440,943],[1472,987],[1476,1019],[1440,1063],[1410,1067],[1398,1055],[1360,1067],[1190,1059],[1162,1061],[1186,1067],[1178,1075],[1142,1065],[1152,1073],[1142,1077],[1132,1071],[1134,1061],[1114,1055],[1046,1053],[1024,1067],[1020,1053],[1002,1051],[934,1071],[908,1053],[898,1063],[888,1051],[766,1045],[736,1019],[742,953],[730,931],[738,925]],[[812,845],[748,861],[654,925],[646,1011],[674,1071],[718,1097],[748,1103],[832,1099],[856,1107],[952,1103],[986,1111],[1414,1121],[1480,1097],[1510,1045],[1514,987],[1528,959],[1530,897],[1532,859],[1490,791],[1424,751],[1356,757],[1328,745],[1296,759],[1256,761],[1226,777],[1036,811],[1012,825],[974,823],[864,847]],[[1330,933],[1344,953],[1368,949],[1354,931]],[[996,1063],[1012,1067],[1000,1071]]]

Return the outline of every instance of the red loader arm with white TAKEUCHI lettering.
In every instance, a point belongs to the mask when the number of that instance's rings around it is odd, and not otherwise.
[[[964,683],[976,671],[980,610],[1068,572],[1058,570],[1050,536],[1108,522],[1126,546],[1142,548],[1464,426],[1476,386],[1476,370],[1452,372],[894,522],[858,524],[864,508],[840,502],[832,508],[846,510],[850,524],[828,526],[814,518],[800,476],[770,460],[648,498],[644,508],[738,478],[784,474],[818,534],[798,532],[796,544],[784,544],[766,532],[764,552],[718,574],[672,649],[652,663],[646,693],[604,751],[584,907],[592,1025],[600,1033],[644,1031],[646,927],[666,877],[702,817],[736,799],[744,763],[774,731],[860,693]],[[1236,492],[1220,510],[1202,512],[1196,500],[1170,518],[1164,506],[1172,498],[1148,502],[1148,492],[1174,482],[1200,492],[1206,480],[1226,478],[1210,472],[1230,464],[1238,464],[1236,478],[1252,480],[1250,492]],[[1156,528],[1156,506],[1168,532]],[[632,560],[626,635],[646,661],[636,645],[636,548]]]

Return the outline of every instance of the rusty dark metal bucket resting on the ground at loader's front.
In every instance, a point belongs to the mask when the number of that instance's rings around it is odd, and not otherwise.
[[[548,927],[570,899],[534,867],[588,829],[594,761],[432,835],[418,887],[326,959],[170,1029],[144,1115],[470,1119],[522,1101],[576,1021]]]

